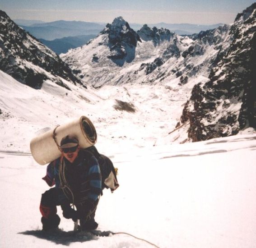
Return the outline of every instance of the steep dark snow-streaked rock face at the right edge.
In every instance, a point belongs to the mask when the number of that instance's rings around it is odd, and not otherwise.
[[[192,141],[256,128],[256,3],[237,15],[214,61],[209,81],[194,86],[181,122],[190,122]]]

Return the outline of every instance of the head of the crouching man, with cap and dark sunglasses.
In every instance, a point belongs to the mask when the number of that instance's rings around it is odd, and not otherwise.
[[[61,152],[65,158],[73,163],[78,156],[79,144],[75,136],[67,135],[61,139]]]

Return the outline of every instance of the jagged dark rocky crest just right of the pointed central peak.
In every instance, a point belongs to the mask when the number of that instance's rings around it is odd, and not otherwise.
[[[166,28],[149,28],[147,24],[144,24],[144,26],[137,31],[137,34],[144,41],[153,41],[155,46],[160,42],[170,41],[174,35],[174,33]]]

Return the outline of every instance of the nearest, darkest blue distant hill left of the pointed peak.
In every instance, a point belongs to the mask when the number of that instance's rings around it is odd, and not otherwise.
[[[61,39],[55,39],[53,41],[47,41],[44,39],[39,39],[44,45],[48,46],[52,51],[56,54],[66,53],[71,48],[77,48],[79,46],[83,46],[89,40],[96,37],[96,35],[89,34],[89,35],[80,35],[80,36],[73,36],[73,37],[64,37]]]

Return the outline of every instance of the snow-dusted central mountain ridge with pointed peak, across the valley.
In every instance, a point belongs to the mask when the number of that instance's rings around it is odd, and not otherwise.
[[[127,82],[167,83],[176,78],[184,84],[191,76],[208,77],[209,63],[218,54],[228,26],[201,33],[197,38],[181,37],[168,29],[147,25],[135,33],[120,17],[107,24],[105,30],[86,46],[61,55],[93,87]]]

